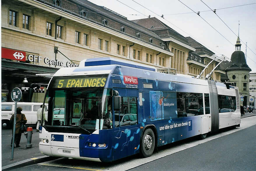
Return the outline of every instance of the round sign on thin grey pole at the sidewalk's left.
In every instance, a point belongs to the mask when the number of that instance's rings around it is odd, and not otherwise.
[[[14,120],[13,120],[13,142],[12,142],[12,154],[11,159],[13,160],[13,152],[14,152],[14,140],[15,140],[15,129],[16,129],[16,116],[17,116],[17,102],[20,101],[22,97],[22,92],[19,88],[14,88],[11,93],[12,100],[15,102],[14,108]]]

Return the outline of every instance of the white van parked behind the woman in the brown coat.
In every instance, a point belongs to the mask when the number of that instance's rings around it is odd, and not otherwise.
[[[15,102],[2,102],[2,129],[10,128],[10,118],[14,114]],[[17,102],[17,107],[22,108],[23,114],[27,118],[26,125],[35,126],[37,124],[37,110],[43,103],[29,103],[29,102]],[[45,104],[45,117],[48,116],[48,104]]]

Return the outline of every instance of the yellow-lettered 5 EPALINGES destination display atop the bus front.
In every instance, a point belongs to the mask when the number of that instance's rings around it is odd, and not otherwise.
[[[53,83],[54,88],[79,88],[79,87],[104,87],[106,77],[76,77],[76,78],[56,78]]]

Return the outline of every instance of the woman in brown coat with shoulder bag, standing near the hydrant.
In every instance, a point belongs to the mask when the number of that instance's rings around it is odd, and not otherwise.
[[[24,131],[22,131],[21,125],[22,124],[26,124],[27,123],[27,119],[25,117],[25,115],[23,113],[21,113],[22,108],[21,107],[17,107],[17,116],[16,116],[16,125],[15,125],[15,140],[14,143],[16,144],[16,147],[20,147],[20,138],[21,138],[21,133],[23,133]],[[14,121],[14,114],[11,116],[10,121],[12,122],[12,132],[13,132],[13,121]],[[11,140],[11,146],[13,143],[13,138]]]

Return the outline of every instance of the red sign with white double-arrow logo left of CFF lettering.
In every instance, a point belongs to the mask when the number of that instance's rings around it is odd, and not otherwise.
[[[2,58],[26,61],[26,52],[6,49],[2,47]]]

